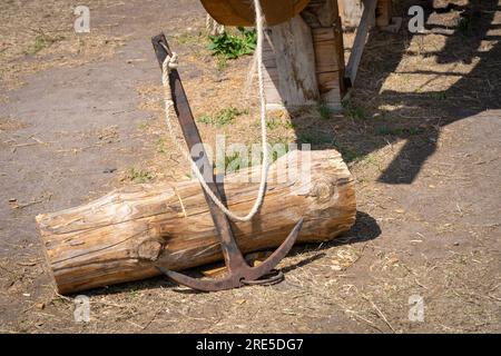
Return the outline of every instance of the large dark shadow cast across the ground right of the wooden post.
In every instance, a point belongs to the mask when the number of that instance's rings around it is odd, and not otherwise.
[[[410,33],[405,20],[399,33],[373,29],[355,88],[345,101],[344,117],[312,120],[293,115],[298,142],[311,144],[314,149],[336,148],[347,162],[405,139],[403,148],[377,178],[392,185],[414,181],[424,162],[435,152],[442,128],[501,108],[501,44],[485,42],[501,39],[492,34],[501,29],[501,24],[493,23],[495,11],[501,11],[498,1],[470,0],[463,6],[451,1],[440,9],[433,8],[433,1],[429,0],[397,1],[395,16],[409,20],[406,11],[414,4],[425,10],[428,33]],[[440,16],[453,14],[452,11],[460,12],[454,27],[438,23]],[[435,36],[441,46],[421,50],[424,36]],[[423,60],[434,58],[436,65],[426,66],[426,70],[399,70],[402,60],[413,55],[422,56]],[[461,66],[470,63],[474,63],[474,69],[461,72]],[[440,65],[459,69],[441,71]],[[420,88],[432,82],[446,89],[405,90],[412,86],[389,89],[384,83],[392,76],[418,78],[423,82]],[[451,83],[446,86],[448,82]]]

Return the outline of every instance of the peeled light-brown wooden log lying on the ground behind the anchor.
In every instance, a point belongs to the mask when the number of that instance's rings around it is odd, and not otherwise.
[[[269,172],[261,214],[252,222],[232,222],[244,253],[279,246],[301,217],[299,243],[331,240],[354,224],[354,182],[337,151],[295,150]],[[225,177],[230,209],[249,209],[258,176],[259,167],[254,167]],[[153,277],[159,274],[155,265],[180,270],[223,258],[195,180],[131,186],[39,215],[37,222],[61,294]]]

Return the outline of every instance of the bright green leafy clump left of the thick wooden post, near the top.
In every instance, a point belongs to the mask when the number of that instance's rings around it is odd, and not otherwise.
[[[256,30],[247,30],[238,27],[237,34],[224,32],[218,36],[209,36],[208,50],[213,56],[222,56],[225,59],[237,59],[254,53],[257,43]]]

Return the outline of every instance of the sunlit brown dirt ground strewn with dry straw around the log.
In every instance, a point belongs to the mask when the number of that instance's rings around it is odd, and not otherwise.
[[[163,126],[150,37],[165,31],[179,52],[197,118],[245,111],[200,122],[207,141],[258,141],[256,98],[235,96],[250,58],[210,57],[195,0],[87,0],[89,34],[72,30],[77,1],[2,1],[0,332],[500,333],[501,1],[396,2],[403,28],[372,31],[343,115],[313,110],[269,127],[274,142],[343,154],[356,179],[353,229],[296,247],[276,286],[110,286],[87,293],[90,323],[77,324],[75,296],[51,286],[35,216],[189,179]],[[425,33],[406,31],[410,4],[424,7]],[[346,33],[346,55],[352,41]],[[412,318],[413,300],[423,319]]]

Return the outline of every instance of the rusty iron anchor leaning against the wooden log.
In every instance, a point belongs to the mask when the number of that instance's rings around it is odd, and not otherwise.
[[[161,68],[164,60],[167,58],[167,56],[173,56],[173,52],[169,49],[167,39],[164,33],[154,37],[151,41]],[[174,108],[176,110],[185,140],[188,144],[188,148],[193,152],[193,148],[196,146],[199,152],[197,157],[193,156],[193,159],[197,162],[198,167],[212,167],[207,154],[205,152],[203,145],[200,145],[202,138],[193,118],[191,109],[189,107],[188,99],[183,88],[183,83],[177,69],[171,70],[169,75],[169,83],[173,95]],[[214,171],[212,172],[212,177],[213,179],[207,181],[207,184],[215,196],[222,199],[222,194],[214,179]],[[278,263],[289,253],[291,248],[294,246],[297,239],[301,228],[303,227],[303,218],[297,222],[285,241],[278,247],[278,249],[276,249],[265,261],[263,261],[258,266],[250,267],[245,260],[242,251],[239,250],[238,245],[236,244],[229,219],[214,204],[214,201],[205,191],[204,195],[209,207],[213,221],[216,226],[217,238],[220,243],[225,264],[228,270],[227,276],[218,279],[204,280],[188,277],[161,266],[157,266],[157,268],[179,285],[184,285],[191,289],[202,291],[217,291],[239,288],[245,285],[269,285],[281,281],[283,279],[282,273],[278,273],[271,278],[262,278],[271,275],[276,265],[278,265]]]

